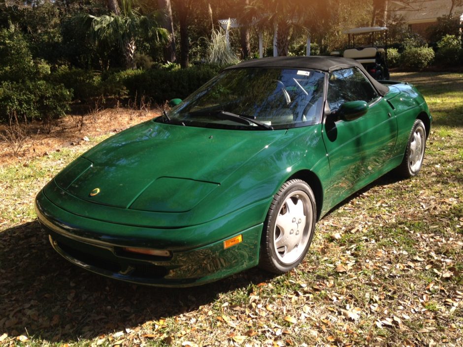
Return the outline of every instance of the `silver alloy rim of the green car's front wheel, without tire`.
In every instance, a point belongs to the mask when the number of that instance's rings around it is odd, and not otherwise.
[[[310,240],[313,210],[308,195],[293,191],[281,205],[273,230],[278,260],[289,265],[298,260]]]

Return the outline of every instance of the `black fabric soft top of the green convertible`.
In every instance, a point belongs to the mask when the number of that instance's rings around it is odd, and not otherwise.
[[[323,57],[323,56],[310,56],[310,57],[270,57],[261,59],[247,60],[242,63],[227,67],[226,70],[235,68],[247,67],[280,67],[280,68],[302,68],[331,72],[346,67],[356,66],[361,69],[364,75],[368,78],[371,84],[376,88],[380,95],[386,95],[389,88],[384,84],[376,81],[371,75],[366,72],[361,63],[354,59],[338,58],[338,57]]]

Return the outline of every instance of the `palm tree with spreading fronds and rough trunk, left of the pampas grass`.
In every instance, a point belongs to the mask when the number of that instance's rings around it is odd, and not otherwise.
[[[93,37],[99,42],[116,42],[124,53],[128,68],[134,68],[136,38],[148,36],[158,41],[168,41],[169,32],[160,28],[156,13],[140,14],[133,6],[133,0],[121,0],[120,13],[92,16],[85,15]]]

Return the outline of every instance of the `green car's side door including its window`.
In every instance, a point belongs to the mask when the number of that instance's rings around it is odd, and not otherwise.
[[[368,111],[343,120],[336,110],[347,101],[364,100]],[[397,121],[391,106],[378,95],[363,72],[356,68],[333,71],[328,78],[323,139],[331,169],[327,198],[334,204],[378,177],[390,158],[397,138]]]

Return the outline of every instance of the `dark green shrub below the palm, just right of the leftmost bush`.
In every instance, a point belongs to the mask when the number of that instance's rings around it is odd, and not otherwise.
[[[103,94],[101,75],[91,70],[60,66],[52,73],[50,79],[71,89],[76,100],[85,102]]]

